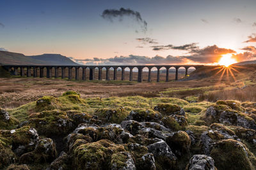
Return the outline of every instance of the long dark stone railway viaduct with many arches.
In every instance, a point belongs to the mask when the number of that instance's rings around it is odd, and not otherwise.
[[[12,72],[15,75],[18,75],[18,69],[20,69],[20,76],[25,76],[25,69],[27,72],[27,76],[31,76],[31,69],[33,69],[33,76],[37,77],[37,70],[39,69],[40,73],[40,78],[44,77],[44,69],[46,68],[46,77],[51,78],[52,77],[52,69],[55,69],[55,78],[58,78],[58,71],[61,69],[61,78],[65,78],[65,69],[68,68],[68,79],[72,79],[72,68],[75,68],[75,78],[76,80],[79,80],[79,69],[82,68],[82,80],[86,80],[86,68],[89,68],[89,80],[95,80],[95,69],[97,68],[99,70],[98,74],[98,80],[102,80],[102,69],[106,70],[106,80],[109,79],[109,70],[114,71],[113,75],[113,80],[116,80],[116,71],[118,68],[121,69],[122,71],[122,76],[121,80],[124,80],[125,76],[125,69],[129,68],[130,73],[129,73],[129,81],[132,81],[132,74],[134,73],[132,69],[137,68],[138,69],[138,82],[142,82],[142,73],[143,73],[143,68],[148,68],[148,82],[151,81],[151,70],[152,68],[157,69],[157,82],[159,82],[160,78],[160,69],[164,67],[166,69],[166,81],[169,81],[169,69],[170,68],[175,68],[175,80],[178,80],[178,70],[180,67],[184,67],[186,69],[185,76],[188,75],[188,69],[189,67],[195,67],[195,69],[198,69],[199,67],[202,67],[203,65],[152,65],[152,66],[3,66],[5,69],[8,71]]]

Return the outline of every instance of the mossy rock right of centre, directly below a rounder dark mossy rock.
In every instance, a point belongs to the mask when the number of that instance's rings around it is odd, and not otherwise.
[[[170,115],[161,119],[165,127],[170,128],[172,131],[184,130],[188,125],[186,117],[180,115]]]

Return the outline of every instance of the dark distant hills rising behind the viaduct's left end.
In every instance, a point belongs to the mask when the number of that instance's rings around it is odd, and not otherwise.
[[[60,54],[26,56],[22,53],[0,51],[1,65],[56,65],[77,66],[76,62]]]

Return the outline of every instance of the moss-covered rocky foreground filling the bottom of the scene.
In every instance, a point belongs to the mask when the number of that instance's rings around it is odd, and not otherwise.
[[[256,169],[256,103],[173,103],[92,111],[65,92],[1,109],[0,169]]]

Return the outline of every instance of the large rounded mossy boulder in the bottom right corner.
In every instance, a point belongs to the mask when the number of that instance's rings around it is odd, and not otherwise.
[[[210,156],[217,169],[255,169],[254,155],[243,143],[234,139],[224,139],[211,148]]]

